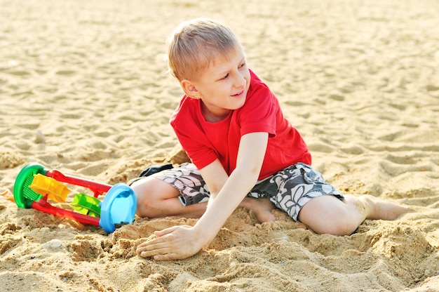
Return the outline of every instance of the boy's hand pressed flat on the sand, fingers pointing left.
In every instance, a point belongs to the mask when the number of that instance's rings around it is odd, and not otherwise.
[[[137,255],[154,260],[182,260],[198,253],[205,239],[194,227],[183,225],[156,231],[156,238],[137,246]]]

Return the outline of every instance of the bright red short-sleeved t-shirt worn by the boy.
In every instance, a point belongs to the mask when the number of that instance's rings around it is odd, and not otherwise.
[[[236,168],[241,136],[269,133],[259,180],[292,164],[311,164],[311,154],[302,136],[283,117],[278,99],[268,86],[250,71],[250,88],[243,107],[232,110],[222,121],[206,121],[201,100],[184,95],[170,119],[178,140],[198,169],[221,161],[230,175]]]

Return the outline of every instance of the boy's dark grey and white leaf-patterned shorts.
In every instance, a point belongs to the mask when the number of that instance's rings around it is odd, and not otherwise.
[[[152,174],[180,191],[179,199],[184,206],[208,201],[210,192],[194,164],[182,164]],[[327,183],[320,172],[307,164],[295,164],[260,180],[247,197],[270,199],[277,208],[297,221],[300,209],[311,199],[326,194],[338,199],[343,195]]]

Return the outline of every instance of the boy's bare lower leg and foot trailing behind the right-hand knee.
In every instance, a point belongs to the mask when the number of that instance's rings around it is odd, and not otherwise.
[[[358,199],[365,203],[366,219],[395,220],[403,213],[414,211],[411,208],[384,201],[368,194],[360,196]]]

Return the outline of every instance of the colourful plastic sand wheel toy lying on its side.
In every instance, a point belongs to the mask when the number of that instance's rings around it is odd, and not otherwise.
[[[65,185],[86,187],[93,196],[81,192],[71,203],[73,210],[53,206],[50,201],[63,203],[71,192]],[[104,194],[102,202],[97,199]],[[13,198],[19,208],[36,210],[76,220],[84,225],[102,227],[105,232],[116,230],[116,225],[133,223],[137,201],[133,190],[123,183],[107,185],[92,180],[48,170],[41,164],[27,164],[18,173],[13,187]]]

